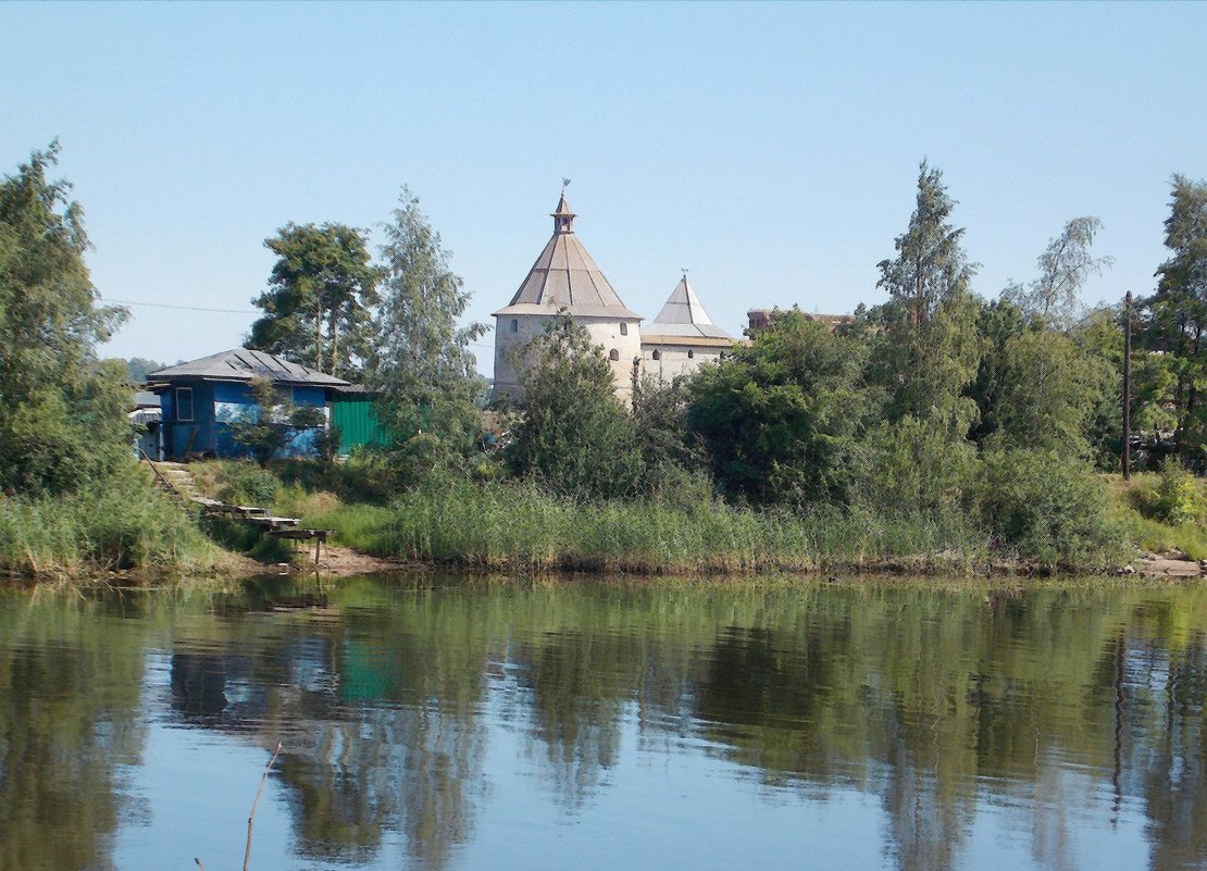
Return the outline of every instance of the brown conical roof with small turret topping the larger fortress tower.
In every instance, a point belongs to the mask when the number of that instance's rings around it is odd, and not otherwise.
[[[553,238],[520,282],[512,302],[495,316],[549,315],[566,309],[571,315],[640,321],[641,315],[625,308],[575,235],[576,216],[565,191],[552,217]]]

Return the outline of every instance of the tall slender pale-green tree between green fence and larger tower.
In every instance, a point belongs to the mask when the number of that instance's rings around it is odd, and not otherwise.
[[[483,385],[470,347],[486,328],[460,326],[471,294],[407,186],[384,232],[369,380],[380,391],[379,415],[397,439],[395,450],[431,466],[473,449]]]

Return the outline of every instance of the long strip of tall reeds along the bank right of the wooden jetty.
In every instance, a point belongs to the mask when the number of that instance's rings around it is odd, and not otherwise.
[[[524,483],[451,481],[409,491],[389,508],[330,508],[304,522],[336,530],[342,544],[375,556],[467,568],[811,571],[919,554],[967,563],[980,553],[972,530],[923,519],[801,516],[719,502],[582,503]]]

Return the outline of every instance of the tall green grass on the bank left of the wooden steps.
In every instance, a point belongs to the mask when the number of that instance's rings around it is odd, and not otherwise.
[[[208,571],[223,555],[138,470],[74,493],[0,497],[0,572]]]

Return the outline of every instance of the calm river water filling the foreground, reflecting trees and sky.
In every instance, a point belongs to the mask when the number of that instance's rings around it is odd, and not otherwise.
[[[1207,867],[1207,588],[0,594],[0,869]]]

